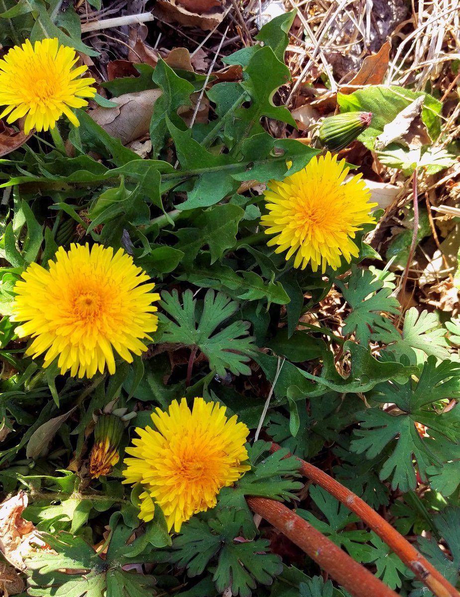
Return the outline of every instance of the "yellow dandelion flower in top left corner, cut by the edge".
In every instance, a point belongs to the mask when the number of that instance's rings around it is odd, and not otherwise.
[[[29,39],[14,48],[0,60],[0,114],[9,114],[7,122],[14,122],[27,114],[24,133],[33,127],[37,131],[54,128],[56,121],[65,114],[73,125],[79,122],[70,108],[87,106],[82,97],[94,97],[91,87],[95,79],[77,77],[87,66],[72,69],[78,60],[75,50],[59,45],[57,38],[36,41],[32,47]]]

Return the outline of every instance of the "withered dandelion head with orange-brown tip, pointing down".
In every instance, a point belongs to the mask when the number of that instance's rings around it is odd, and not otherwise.
[[[115,414],[101,414],[94,427],[94,446],[89,458],[89,473],[95,479],[108,475],[118,463],[120,445],[125,424]]]

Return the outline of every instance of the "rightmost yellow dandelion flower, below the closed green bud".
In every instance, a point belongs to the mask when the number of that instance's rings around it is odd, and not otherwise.
[[[373,223],[368,203],[371,192],[361,174],[345,181],[350,168],[345,160],[327,152],[314,157],[307,166],[283,181],[271,180],[265,191],[268,214],[261,217],[265,234],[275,234],[268,246],[278,245],[275,253],[294,253],[294,267],[304,269],[308,262],[314,272],[321,266],[337,269],[341,256],[350,263],[359,250],[353,239],[362,224]]]

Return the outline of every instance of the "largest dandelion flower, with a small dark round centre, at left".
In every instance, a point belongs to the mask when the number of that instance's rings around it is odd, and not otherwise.
[[[115,373],[113,349],[122,359],[147,350],[143,338],[155,331],[153,315],[159,300],[155,284],[132,263],[132,257],[111,247],[72,244],[60,247],[49,270],[31,263],[16,282],[11,321],[19,337],[32,336],[26,355],[45,354],[44,367],[59,356],[61,374],[92,377],[107,365]]]

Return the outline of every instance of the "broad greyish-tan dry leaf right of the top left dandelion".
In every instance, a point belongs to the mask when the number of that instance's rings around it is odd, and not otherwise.
[[[153,106],[160,95],[161,91],[158,89],[125,93],[112,98],[111,101],[118,104],[117,107],[98,106],[89,110],[88,114],[109,135],[126,145],[149,132]]]

